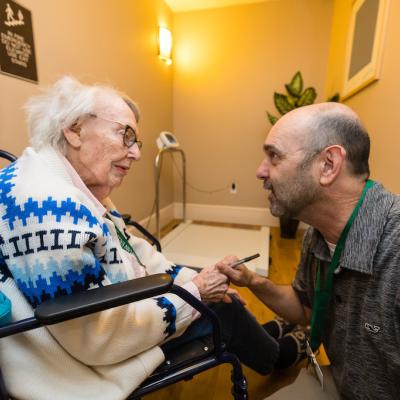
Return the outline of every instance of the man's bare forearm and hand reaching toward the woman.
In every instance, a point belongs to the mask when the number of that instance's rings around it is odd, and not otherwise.
[[[276,285],[271,280],[250,271],[246,266],[233,269],[229,266],[234,260],[226,257],[217,264],[218,269],[237,286],[247,286],[268,308],[290,322],[308,325],[311,309],[301,304],[294,289]]]

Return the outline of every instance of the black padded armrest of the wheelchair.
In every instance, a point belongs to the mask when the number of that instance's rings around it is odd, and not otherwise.
[[[173,279],[168,274],[156,274],[61,296],[40,304],[35,317],[43,325],[52,325],[163,294],[172,284]]]

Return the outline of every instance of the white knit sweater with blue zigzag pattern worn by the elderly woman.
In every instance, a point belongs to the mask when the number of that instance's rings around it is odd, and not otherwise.
[[[135,278],[115,231],[123,221],[115,211],[112,220],[73,184],[54,149],[28,148],[0,171],[0,290],[13,320],[46,298]],[[128,240],[146,273],[192,279],[146,241]],[[163,361],[158,345],[181,334],[192,311],[167,294],[2,339],[6,386],[20,400],[124,399]]]

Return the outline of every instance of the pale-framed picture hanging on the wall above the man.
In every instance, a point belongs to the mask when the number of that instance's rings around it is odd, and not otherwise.
[[[352,5],[342,98],[379,79],[390,0],[355,0]]]

